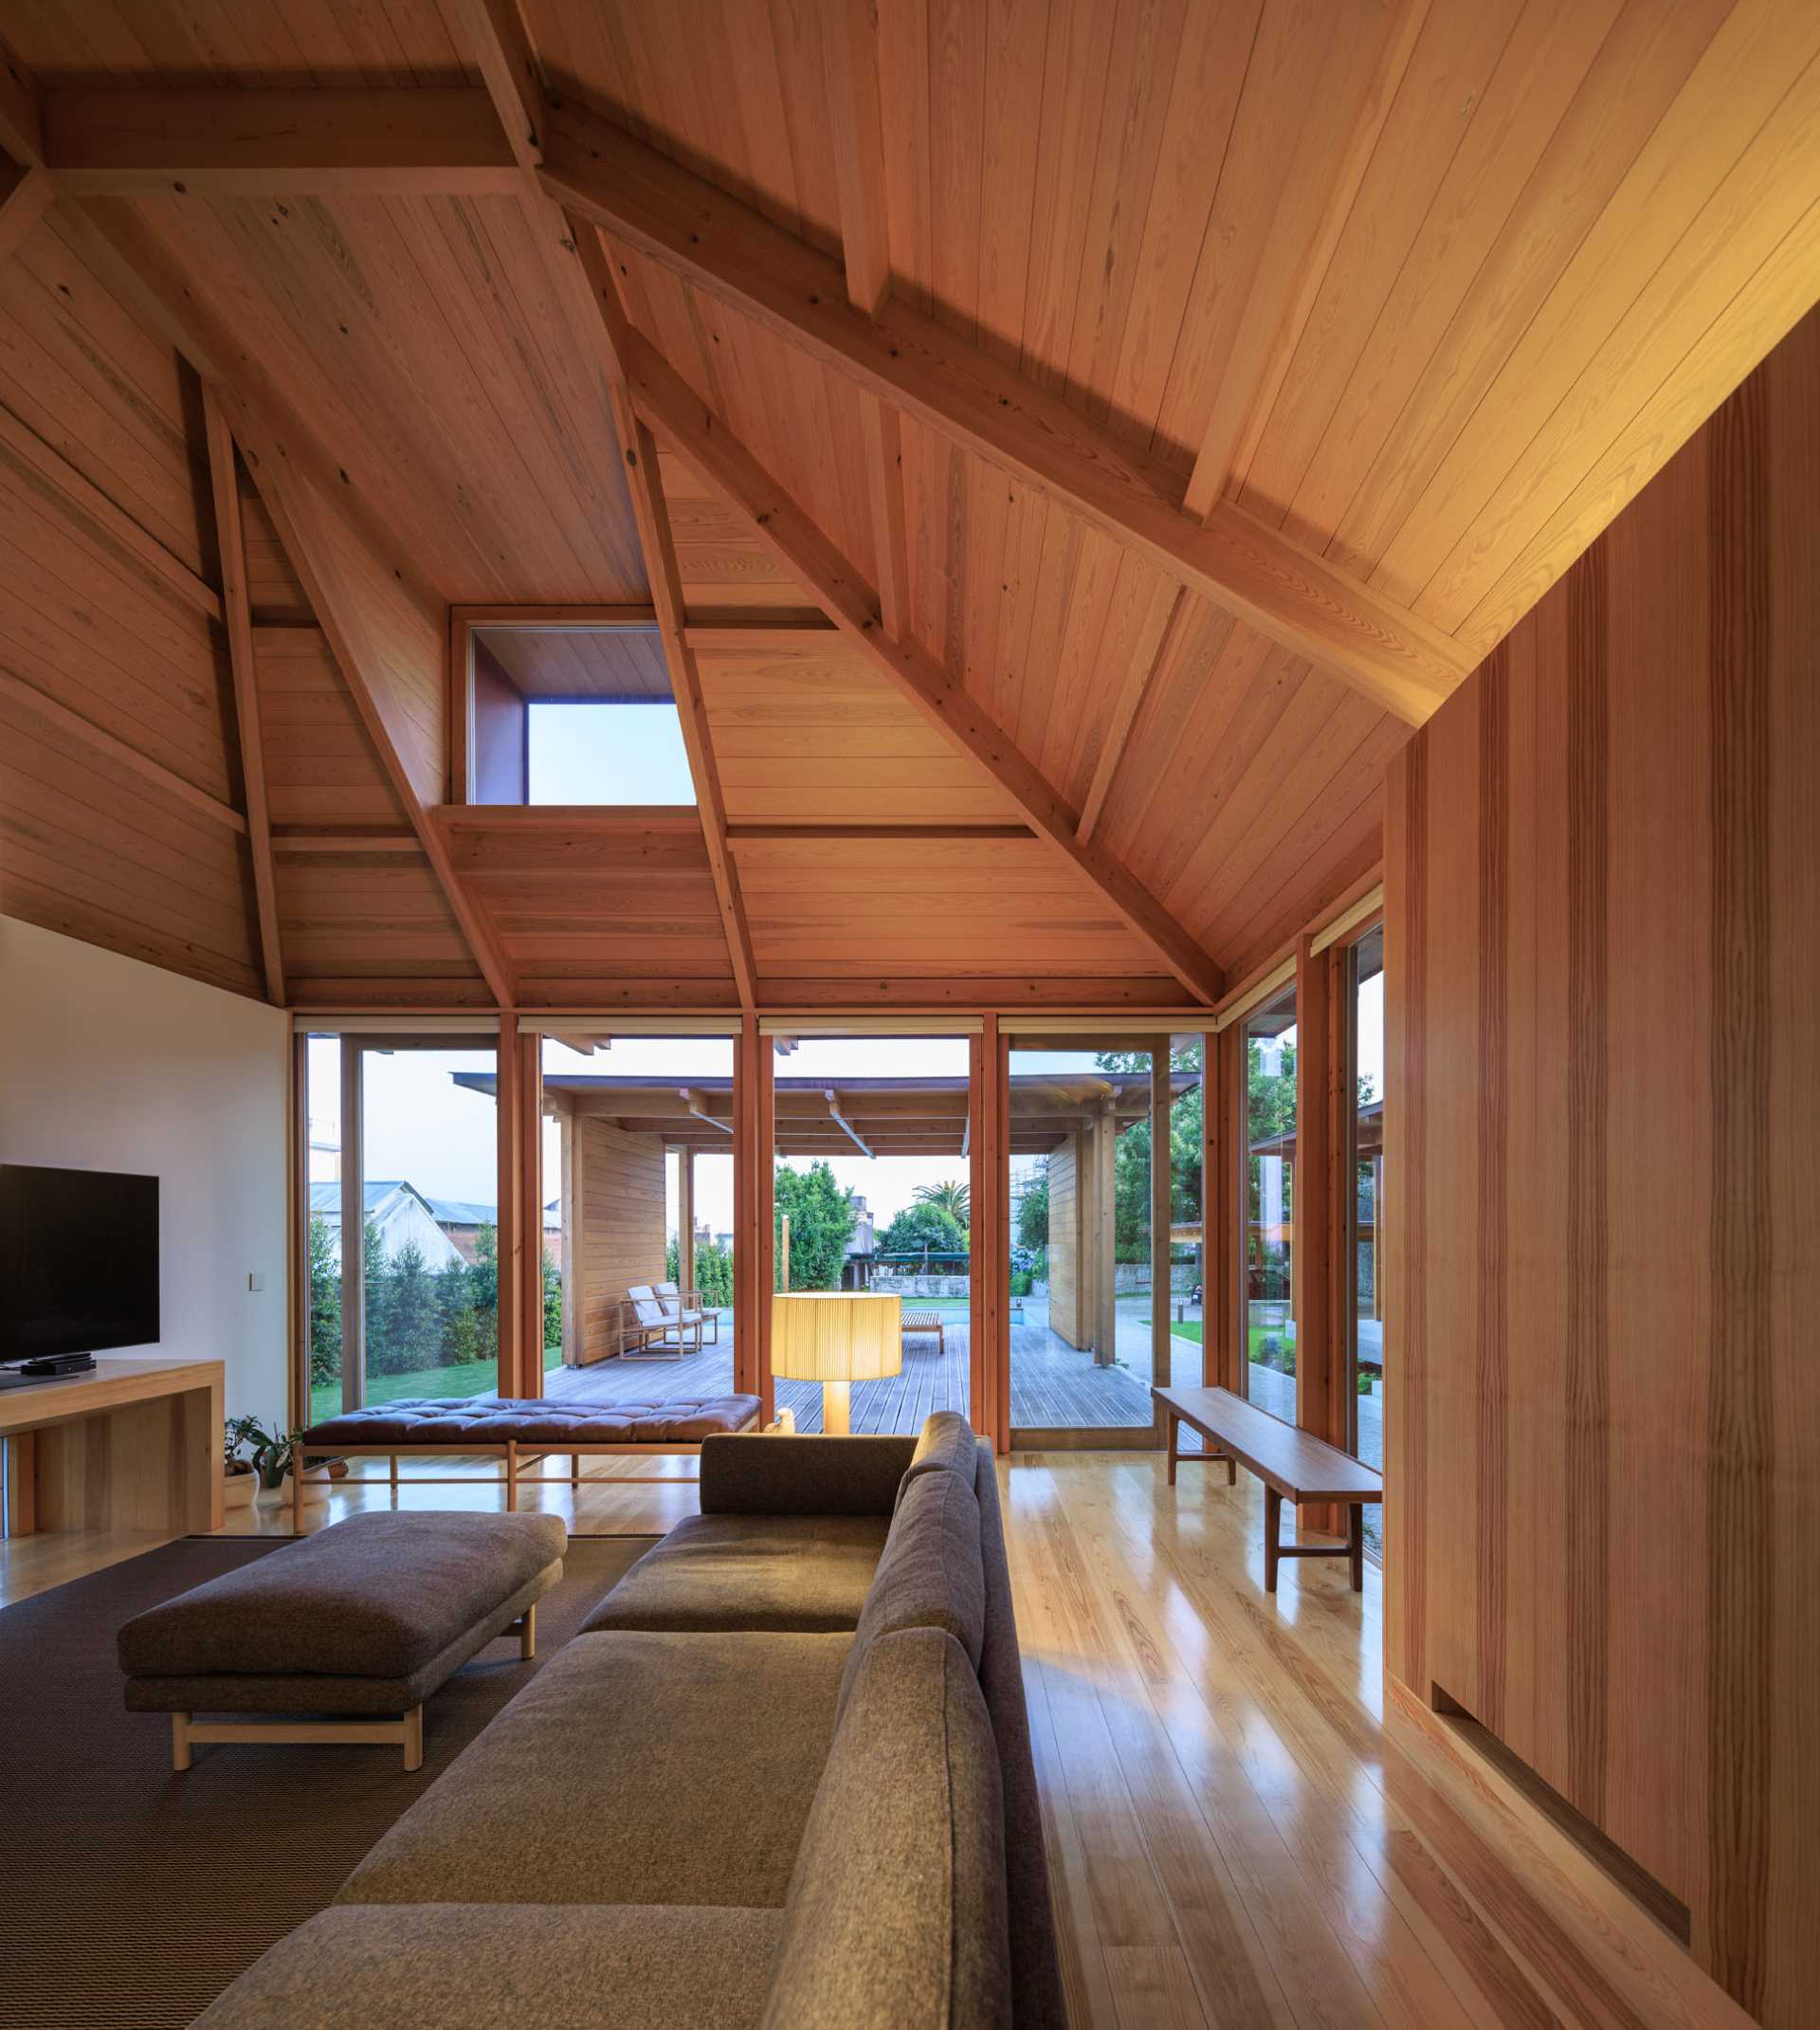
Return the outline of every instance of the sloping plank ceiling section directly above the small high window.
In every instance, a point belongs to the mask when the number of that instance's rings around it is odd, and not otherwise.
[[[509,197],[134,201],[452,601],[637,603],[599,380]]]

